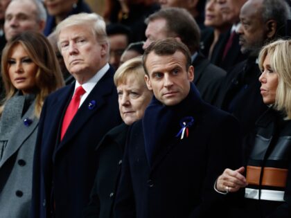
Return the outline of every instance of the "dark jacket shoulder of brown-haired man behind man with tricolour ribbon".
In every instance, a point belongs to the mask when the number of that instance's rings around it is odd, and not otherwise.
[[[194,66],[193,82],[201,98],[213,104],[218,92],[218,81],[222,80],[227,72],[211,64],[201,53],[198,53],[192,65]]]

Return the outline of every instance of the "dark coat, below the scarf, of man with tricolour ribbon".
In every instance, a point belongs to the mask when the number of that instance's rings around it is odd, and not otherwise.
[[[130,127],[114,217],[222,217],[227,203],[222,205],[225,196],[213,185],[226,167],[241,164],[238,122],[204,102],[189,107],[195,121],[188,138],[167,134],[151,166],[142,122]]]

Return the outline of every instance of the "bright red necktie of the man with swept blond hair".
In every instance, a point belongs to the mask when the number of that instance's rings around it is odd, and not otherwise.
[[[73,117],[78,111],[81,96],[84,95],[86,91],[83,89],[82,86],[78,87],[76,89],[75,94],[73,95],[73,98],[71,99],[71,102],[67,108],[66,113],[64,114],[64,120],[62,120],[62,131],[61,131],[61,140],[64,137],[64,134],[66,133],[71,120],[73,120]]]

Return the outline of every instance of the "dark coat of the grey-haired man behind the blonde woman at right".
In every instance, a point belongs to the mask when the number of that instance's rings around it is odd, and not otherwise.
[[[256,120],[267,109],[261,96],[260,75],[256,58],[240,62],[222,81],[215,103],[238,118],[243,136],[254,129]]]

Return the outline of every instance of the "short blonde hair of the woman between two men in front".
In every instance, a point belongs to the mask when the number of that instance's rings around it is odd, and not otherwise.
[[[118,87],[119,84],[125,84],[128,76],[134,75],[137,80],[145,84],[145,71],[143,69],[142,57],[134,57],[127,60],[118,67],[114,74],[114,84]]]

